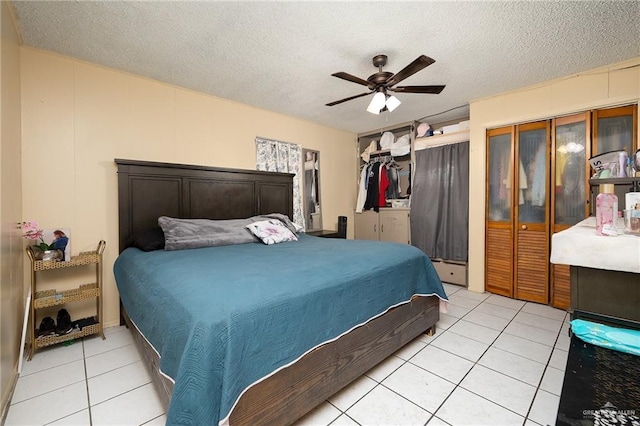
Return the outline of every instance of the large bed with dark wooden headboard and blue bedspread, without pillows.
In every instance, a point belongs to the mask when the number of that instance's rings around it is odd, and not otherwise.
[[[294,423],[435,331],[446,295],[408,245],[299,234],[275,245],[127,248],[160,216],[291,218],[292,175],[115,162],[121,313],[168,424]]]

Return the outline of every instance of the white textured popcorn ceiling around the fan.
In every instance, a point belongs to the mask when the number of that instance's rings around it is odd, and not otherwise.
[[[28,46],[352,132],[466,117],[469,100],[640,56],[640,1],[13,5]],[[447,87],[397,94],[402,105],[379,116],[370,96],[325,106],[366,92],[331,74],[366,79],[376,54],[393,73],[430,56],[401,85]]]

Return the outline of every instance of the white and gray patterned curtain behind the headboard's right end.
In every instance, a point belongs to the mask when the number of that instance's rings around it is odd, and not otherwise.
[[[300,145],[256,138],[257,170],[295,174],[293,178],[293,222],[304,227],[302,193],[300,192],[301,156]]]

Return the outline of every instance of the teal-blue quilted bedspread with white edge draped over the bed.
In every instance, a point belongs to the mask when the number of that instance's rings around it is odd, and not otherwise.
[[[446,299],[415,247],[304,234],[272,246],[128,248],[114,273],[175,381],[167,424],[217,424],[245,388],[309,349],[414,294]]]

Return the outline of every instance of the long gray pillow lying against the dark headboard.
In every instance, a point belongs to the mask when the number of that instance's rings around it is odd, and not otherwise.
[[[158,225],[164,232],[165,250],[184,250],[257,242],[246,228],[253,221],[253,218],[209,220],[160,216]]]

